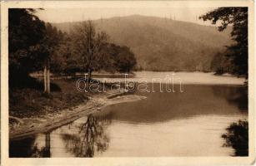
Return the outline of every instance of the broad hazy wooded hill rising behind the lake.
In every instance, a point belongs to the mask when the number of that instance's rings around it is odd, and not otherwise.
[[[71,32],[79,22],[53,23],[63,32]],[[133,15],[94,20],[98,30],[107,32],[109,40],[129,46],[145,71],[211,71],[217,52],[231,44],[228,27],[181,22],[163,17]]]

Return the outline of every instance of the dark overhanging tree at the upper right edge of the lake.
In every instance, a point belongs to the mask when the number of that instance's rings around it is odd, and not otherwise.
[[[231,32],[233,45],[227,46],[228,59],[231,61],[233,74],[245,75],[248,78],[248,7],[218,7],[199,17],[212,24],[220,22],[218,31],[223,31],[228,25],[233,27]]]

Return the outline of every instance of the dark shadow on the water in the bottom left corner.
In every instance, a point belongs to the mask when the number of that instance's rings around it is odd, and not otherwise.
[[[13,140],[9,144],[9,155],[14,158],[49,158],[51,157],[50,133],[45,134],[45,146],[38,147],[36,137],[28,137],[22,140]]]

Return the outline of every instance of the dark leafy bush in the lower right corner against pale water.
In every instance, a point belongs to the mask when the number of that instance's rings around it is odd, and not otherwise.
[[[225,139],[223,146],[232,147],[234,156],[248,156],[248,121],[239,120],[227,128],[227,133],[222,135]]]

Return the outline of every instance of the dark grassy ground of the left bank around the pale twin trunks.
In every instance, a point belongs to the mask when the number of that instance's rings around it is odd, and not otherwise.
[[[85,104],[91,93],[79,92],[74,79],[51,81],[51,93],[43,92],[43,81],[33,79],[33,83],[9,89],[9,114],[18,118],[29,118],[64,109],[73,109]]]

